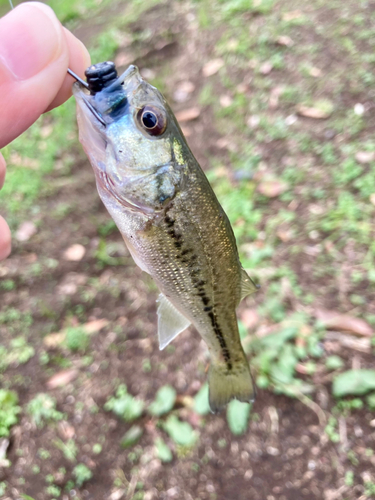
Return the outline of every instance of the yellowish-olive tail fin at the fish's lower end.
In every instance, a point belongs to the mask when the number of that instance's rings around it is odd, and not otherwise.
[[[213,413],[221,410],[231,399],[244,403],[254,401],[255,389],[245,356],[243,361],[234,363],[231,369],[225,363],[212,360],[208,383],[209,402]]]

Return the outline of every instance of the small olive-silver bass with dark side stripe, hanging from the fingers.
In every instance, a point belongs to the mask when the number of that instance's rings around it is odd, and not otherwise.
[[[190,324],[207,344],[212,412],[254,400],[236,308],[256,285],[229,219],[163,95],[106,61],[73,84],[79,139],[135,263],[156,282],[159,347]],[[88,88],[87,88],[88,87]]]

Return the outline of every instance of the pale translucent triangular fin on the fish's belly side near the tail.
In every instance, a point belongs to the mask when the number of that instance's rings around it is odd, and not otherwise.
[[[161,293],[158,298],[158,336],[159,349],[163,350],[177,335],[190,325],[171,302]]]

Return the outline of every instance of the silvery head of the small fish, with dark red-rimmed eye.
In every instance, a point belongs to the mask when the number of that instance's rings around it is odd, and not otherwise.
[[[101,196],[144,211],[162,209],[181,185],[188,149],[162,94],[136,66],[99,91],[76,82],[73,94],[80,141]]]

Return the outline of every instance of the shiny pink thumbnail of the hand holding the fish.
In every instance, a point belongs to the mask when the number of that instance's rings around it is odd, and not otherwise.
[[[24,3],[0,19],[0,61],[16,80],[39,73],[61,47],[61,25],[47,5]]]

